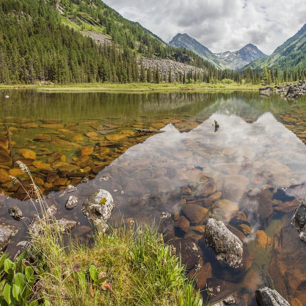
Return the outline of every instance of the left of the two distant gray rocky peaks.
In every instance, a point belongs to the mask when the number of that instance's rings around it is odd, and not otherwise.
[[[201,56],[204,60],[210,62],[219,69],[224,69],[226,67],[223,61],[218,58],[218,56],[216,56],[212,51],[210,51],[208,48],[197,42],[194,38],[190,37],[186,33],[176,34],[175,37],[169,42],[169,44],[178,48],[192,50]]]

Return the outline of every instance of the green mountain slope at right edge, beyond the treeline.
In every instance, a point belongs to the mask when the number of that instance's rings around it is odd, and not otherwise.
[[[250,65],[251,68],[262,68],[267,66],[270,69],[281,71],[302,70],[306,68],[306,24],[284,44],[268,57],[260,58]]]

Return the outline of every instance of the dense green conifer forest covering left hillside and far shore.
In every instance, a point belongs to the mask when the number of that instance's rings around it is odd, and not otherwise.
[[[97,44],[83,35],[85,30],[107,35],[111,43]],[[0,84],[174,81],[170,74],[159,75],[158,67],[143,71],[137,57],[203,69],[202,73],[191,69],[181,75],[181,83],[268,85],[304,80],[306,74],[305,69],[277,66],[217,69],[193,51],[169,46],[101,0],[0,0]]]

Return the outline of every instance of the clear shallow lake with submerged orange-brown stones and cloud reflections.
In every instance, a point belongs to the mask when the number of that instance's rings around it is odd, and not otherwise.
[[[57,216],[80,222],[72,232],[80,239],[90,240],[92,231],[81,204],[103,188],[115,202],[109,223],[155,220],[165,239],[186,252],[197,286],[220,286],[215,300],[237,291],[240,305],[256,305],[254,291],[268,285],[291,305],[306,304],[306,245],[290,224],[306,197],[305,97],[11,89],[1,92],[0,111],[0,221],[19,228],[8,252],[16,252],[35,213],[8,176],[30,188],[12,164],[20,159]],[[61,196],[70,184],[79,198],[73,210],[65,209],[71,194]],[[12,205],[24,219],[8,214]],[[209,218],[243,242],[243,269],[224,267],[205,244]]]

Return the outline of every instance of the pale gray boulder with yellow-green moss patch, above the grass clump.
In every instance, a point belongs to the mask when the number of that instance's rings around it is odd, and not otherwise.
[[[99,231],[106,232],[107,221],[114,208],[114,200],[107,190],[99,189],[83,203],[83,214],[92,220]]]

